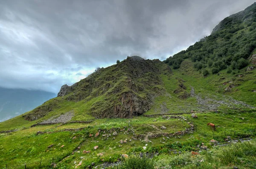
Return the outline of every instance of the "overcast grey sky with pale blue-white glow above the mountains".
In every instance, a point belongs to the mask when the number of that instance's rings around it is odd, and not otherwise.
[[[254,0],[1,0],[0,86],[57,93],[128,55],[166,59]]]

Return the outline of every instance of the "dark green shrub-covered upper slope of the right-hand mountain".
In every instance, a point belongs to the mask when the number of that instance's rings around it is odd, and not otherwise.
[[[223,69],[231,73],[250,64],[250,57],[256,54],[255,48],[256,3],[226,17],[212,34],[164,62],[173,69],[179,69],[183,60],[189,58],[194,62],[194,68],[203,75],[215,74]]]

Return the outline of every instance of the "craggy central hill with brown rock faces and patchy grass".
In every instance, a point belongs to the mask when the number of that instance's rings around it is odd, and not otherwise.
[[[96,118],[142,115],[150,109],[154,97],[164,91],[161,71],[172,74],[169,66],[160,60],[128,57],[116,65],[97,70],[72,86],[61,86],[58,97],[69,102],[97,99],[90,108],[91,115]],[[36,120],[47,115],[55,106],[43,104],[24,117]]]

